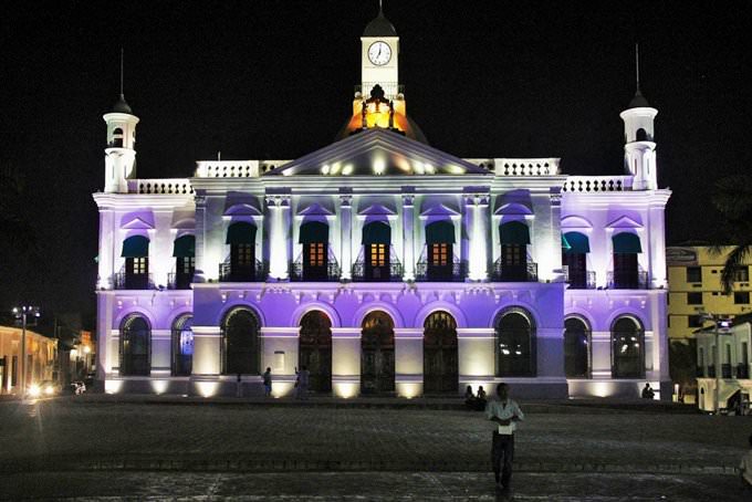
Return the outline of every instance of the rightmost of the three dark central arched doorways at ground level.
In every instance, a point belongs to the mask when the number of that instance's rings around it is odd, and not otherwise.
[[[447,312],[434,312],[424,323],[424,393],[457,393],[457,323]]]

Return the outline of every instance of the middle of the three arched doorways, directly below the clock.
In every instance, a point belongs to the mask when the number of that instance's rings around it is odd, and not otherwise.
[[[385,312],[372,312],[363,320],[361,336],[361,391],[395,390],[395,331]]]

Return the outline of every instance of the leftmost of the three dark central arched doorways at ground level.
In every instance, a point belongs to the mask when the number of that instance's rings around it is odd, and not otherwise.
[[[321,311],[311,311],[301,320],[299,368],[310,374],[309,388],[314,393],[332,391],[332,322]]]

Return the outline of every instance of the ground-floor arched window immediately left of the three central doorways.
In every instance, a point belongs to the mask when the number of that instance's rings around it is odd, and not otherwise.
[[[222,374],[259,374],[261,323],[248,308],[234,308],[222,323]]]

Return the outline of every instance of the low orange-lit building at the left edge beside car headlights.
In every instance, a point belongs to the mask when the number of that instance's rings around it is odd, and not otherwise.
[[[0,326],[0,394],[17,394],[21,385],[21,328]],[[27,383],[51,380],[58,341],[27,330]]]

